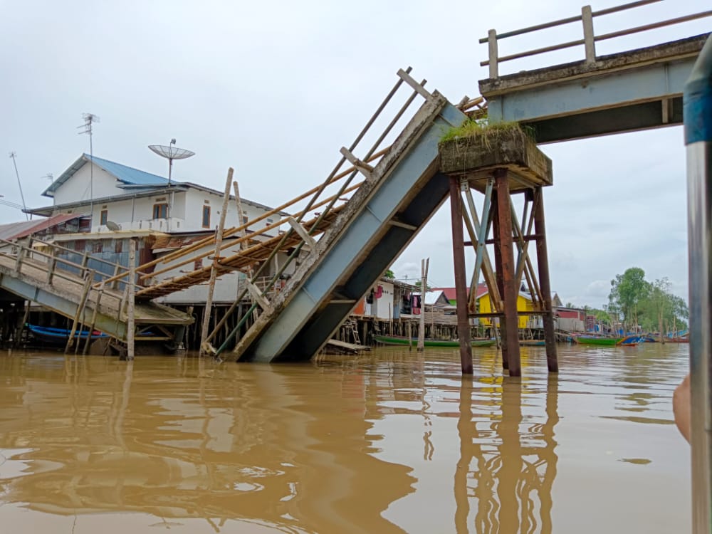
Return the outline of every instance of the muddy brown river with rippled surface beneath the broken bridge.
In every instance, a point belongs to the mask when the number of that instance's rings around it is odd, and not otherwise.
[[[683,533],[686,345],[305,365],[0,353],[0,532]]]

